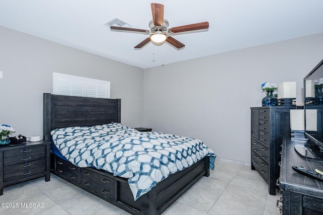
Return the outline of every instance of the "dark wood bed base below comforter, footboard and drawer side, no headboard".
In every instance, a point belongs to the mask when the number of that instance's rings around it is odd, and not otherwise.
[[[80,168],[51,154],[51,172],[132,214],[160,214],[202,176],[209,175],[209,157],[159,182],[134,201],[126,178],[103,170]]]

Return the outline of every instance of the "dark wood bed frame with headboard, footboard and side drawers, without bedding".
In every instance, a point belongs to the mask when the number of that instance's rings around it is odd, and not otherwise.
[[[51,172],[78,187],[132,213],[160,214],[188,190],[202,176],[209,176],[210,158],[205,156],[189,167],[170,174],[155,184],[149,191],[134,198],[128,178],[94,166],[82,167],[70,162],[53,146],[54,130],[69,127],[106,125],[122,126],[121,100],[43,94],[43,138],[52,142]],[[126,128],[131,129],[131,128]],[[130,130],[131,131],[131,130]],[[125,133],[127,133],[126,131]],[[152,135],[145,132],[130,132],[138,135]],[[158,132],[155,132],[158,134]],[[124,134],[123,134],[124,135]],[[128,133],[127,133],[128,135]],[[141,138],[141,137],[140,137]],[[110,140],[109,140],[110,141]],[[212,165],[212,162],[211,162]],[[81,166],[81,167],[80,167]]]

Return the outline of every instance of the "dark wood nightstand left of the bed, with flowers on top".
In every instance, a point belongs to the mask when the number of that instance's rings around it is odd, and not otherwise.
[[[0,195],[4,187],[45,176],[50,180],[50,142],[0,147]]]

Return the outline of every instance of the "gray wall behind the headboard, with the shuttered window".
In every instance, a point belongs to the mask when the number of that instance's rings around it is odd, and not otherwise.
[[[143,125],[143,69],[0,27],[0,123],[16,135],[42,136],[43,93],[52,93],[52,73],[111,82],[121,99],[121,121]]]

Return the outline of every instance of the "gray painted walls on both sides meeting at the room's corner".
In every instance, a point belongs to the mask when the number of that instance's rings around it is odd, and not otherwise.
[[[322,59],[322,35],[141,69],[0,27],[0,123],[42,135],[42,94],[52,73],[111,82],[125,125],[203,140],[220,158],[249,162],[250,107],[264,82],[297,81]]]

